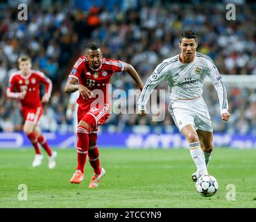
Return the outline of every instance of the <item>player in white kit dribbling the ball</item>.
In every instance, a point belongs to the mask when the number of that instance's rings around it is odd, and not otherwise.
[[[157,65],[148,78],[139,97],[139,114],[146,114],[146,103],[153,89],[167,80],[171,103],[169,112],[173,121],[189,143],[191,157],[197,171],[192,180],[209,175],[207,165],[213,149],[213,130],[210,114],[203,100],[203,80],[209,76],[219,97],[221,118],[230,119],[228,99],[221,75],[209,56],[196,52],[198,40],[196,34],[189,30],[180,36],[180,54],[164,60]]]

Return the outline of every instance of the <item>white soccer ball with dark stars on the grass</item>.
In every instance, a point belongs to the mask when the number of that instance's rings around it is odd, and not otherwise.
[[[196,190],[201,196],[214,196],[218,189],[219,185],[216,178],[210,175],[201,176],[196,182]]]

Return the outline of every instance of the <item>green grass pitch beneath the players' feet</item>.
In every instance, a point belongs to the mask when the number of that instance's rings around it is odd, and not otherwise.
[[[76,168],[75,149],[58,151],[56,169],[32,168],[33,149],[0,150],[0,207],[256,207],[256,150],[215,148],[208,171],[219,191],[211,198],[197,194],[191,173],[196,167],[189,150],[100,148],[106,175],[97,189],[88,189],[92,167],[87,161],[80,185],[69,180]],[[28,200],[18,200],[20,184]],[[227,200],[226,185],[236,200]]]

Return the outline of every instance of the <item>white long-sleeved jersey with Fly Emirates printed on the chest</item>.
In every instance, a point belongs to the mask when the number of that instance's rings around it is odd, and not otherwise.
[[[164,60],[157,65],[148,78],[139,97],[139,110],[146,110],[146,103],[153,89],[162,81],[167,80],[170,99],[195,99],[203,93],[203,80],[209,76],[217,91],[221,113],[228,111],[227,92],[221,75],[209,56],[196,52],[195,59],[190,63],[180,62],[179,55]]]

